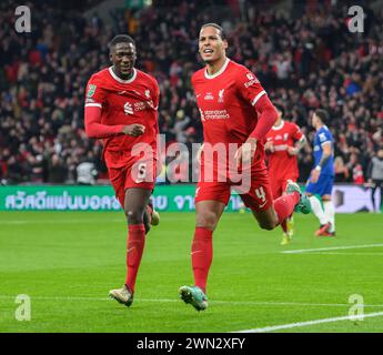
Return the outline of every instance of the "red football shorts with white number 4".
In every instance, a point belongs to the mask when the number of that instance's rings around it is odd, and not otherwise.
[[[203,168],[201,169],[203,171]],[[238,183],[219,182],[219,181],[199,181],[195,189],[195,203],[200,201],[213,200],[229,203],[231,189],[235,190],[241,196],[245,206],[254,212],[265,211],[273,204],[273,197],[270,189],[268,170],[264,164],[260,169],[252,170],[250,179],[250,189],[245,187],[245,192],[241,193]]]

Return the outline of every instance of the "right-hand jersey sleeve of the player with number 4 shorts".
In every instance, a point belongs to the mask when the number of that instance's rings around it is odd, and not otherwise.
[[[252,106],[266,94],[256,77],[248,69],[240,70],[236,77],[236,84],[240,95]]]

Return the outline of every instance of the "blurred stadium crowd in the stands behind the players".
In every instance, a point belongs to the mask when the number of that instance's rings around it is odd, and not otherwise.
[[[382,11],[366,11],[364,32],[352,33],[347,9],[336,1],[301,1],[289,17],[264,6],[241,8],[229,0],[220,6],[173,2],[113,11],[113,20],[107,23],[97,13],[85,17],[83,9],[36,1],[30,3],[31,33],[16,33],[12,1],[1,2],[3,183],[75,183],[81,163],[93,163],[99,181],[107,178],[102,146],[84,133],[83,97],[90,75],[110,64],[108,42],[115,33],[134,38],[137,67],[159,81],[160,131],[167,142],[189,146],[201,142],[190,77],[201,68],[200,26],[212,21],[226,30],[228,57],[258,75],[272,101],[285,108],[285,118],[302,128],[310,143],[311,110],[329,110],[336,142],[336,181],[369,179],[371,159],[383,148]],[[300,181],[305,181],[311,166],[312,151],[306,146],[300,154]]]

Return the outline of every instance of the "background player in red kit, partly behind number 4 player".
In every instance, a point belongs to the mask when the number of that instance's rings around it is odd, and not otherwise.
[[[283,120],[284,109],[274,104],[278,120],[266,134],[264,149],[268,155],[268,171],[273,199],[285,193],[289,180],[299,178],[298,153],[306,143],[301,129],[292,122]],[[294,222],[291,215],[281,223],[283,230],[282,245],[289,244],[293,236]]]

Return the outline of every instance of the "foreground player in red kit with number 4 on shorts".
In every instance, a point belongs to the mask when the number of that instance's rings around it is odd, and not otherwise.
[[[220,26],[202,26],[199,53],[206,67],[192,77],[204,135],[191,247],[194,286],[182,286],[179,290],[181,300],[198,311],[208,307],[205,288],[213,254],[212,234],[229,202],[231,187],[234,186],[232,180],[222,182],[218,178],[212,181],[205,179],[205,165],[211,166],[214,174],[231,169],[231,156],[229,166],[220,168],[214,159],[208,160],[205,154],[209,146],[220,144],[230,151],[230,145],[234,144],[235,164],[251,166],[251,186],[248,192],[241,191],[239,194],[262,229],[273,230],[292,214],[295,206],[303,213],[310,212],[310,202],[293,182],[288,185],[286,195],[273,201],[263,141],[276,121],[276,110],[255,75],[226,58],[226,48],[228,41]]]

